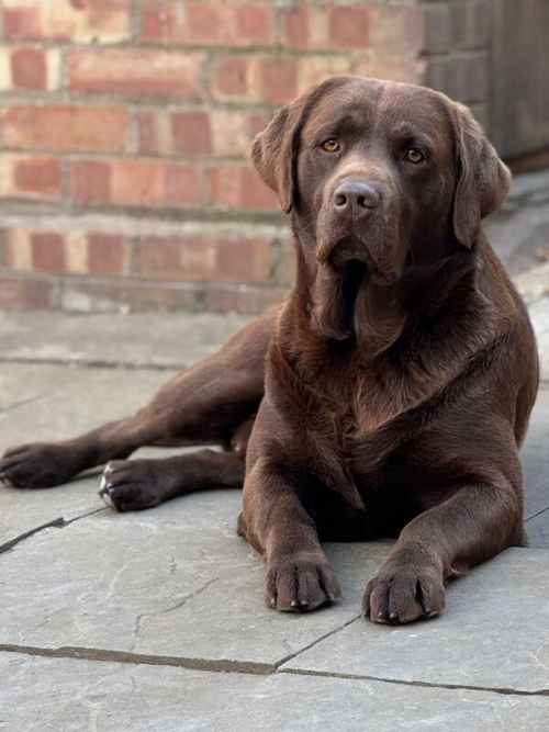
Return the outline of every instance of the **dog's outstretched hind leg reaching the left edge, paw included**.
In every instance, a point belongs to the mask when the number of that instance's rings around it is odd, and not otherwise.
[[[264,394],[264,362],[276,312],[242,328],[213,356],[165,384],[135,415],[64,442],[8,450],[0,480],[14,487],[66,483],[83,470],[122,460],[143,446],[231,447]],[[189,458],[188,455],[183,455]]]

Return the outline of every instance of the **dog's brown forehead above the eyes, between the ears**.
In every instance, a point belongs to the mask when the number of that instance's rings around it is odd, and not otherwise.
[[[397,131],[410,125],[433,137],[446,137],[449,115],[441,94],[408,83],[352,79],[323,94],[311,110],[305,132],[352,117],[370,128]]]

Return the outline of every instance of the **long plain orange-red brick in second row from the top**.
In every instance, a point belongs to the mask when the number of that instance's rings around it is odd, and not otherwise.
[[[156,48],[78,48],[68,56],[74,91],[193,99],[199,95],[200,54]]]

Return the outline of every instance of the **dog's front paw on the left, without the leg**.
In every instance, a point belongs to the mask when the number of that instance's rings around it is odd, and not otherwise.
[[[306,612],[341,596],[339,583],[325,560],[290,556],[267,567],[265,601],[284,612]]]

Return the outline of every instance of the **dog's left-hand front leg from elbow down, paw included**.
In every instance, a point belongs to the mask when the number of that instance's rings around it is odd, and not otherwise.
[[[266,560],[268,607],[314,610],[340,596],[292,478],[267,459],[257,460],[246,477],[240,532]]]

